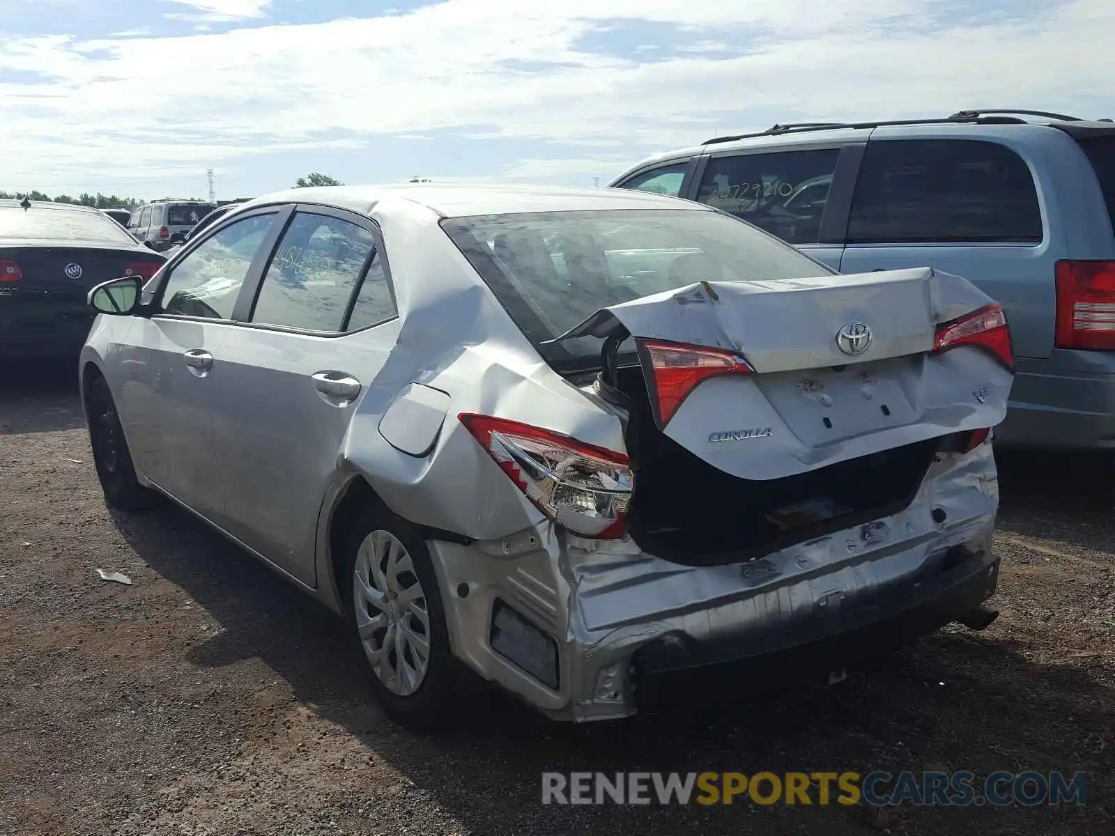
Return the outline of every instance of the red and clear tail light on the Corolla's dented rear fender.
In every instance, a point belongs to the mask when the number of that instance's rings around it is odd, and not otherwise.
[[[626,455],[529,424],[467,412],[459,418],[547,517],[585,537],[623,536],[634,487]]]

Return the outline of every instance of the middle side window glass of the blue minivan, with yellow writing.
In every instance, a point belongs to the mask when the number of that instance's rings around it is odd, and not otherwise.
[[[791,244],[815,244],[838,148],[712,157],[697,200]]]

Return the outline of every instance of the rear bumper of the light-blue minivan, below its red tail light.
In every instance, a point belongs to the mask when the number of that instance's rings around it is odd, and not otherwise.
[[[1115,352],[1058,349],[1018,360],[1002,447],[1115,450]]]

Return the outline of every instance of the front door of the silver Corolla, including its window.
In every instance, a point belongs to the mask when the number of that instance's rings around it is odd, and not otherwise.
[[[216,522],[222,492],[215,469],[212,399],[224,369],[240,289],[262,270],[280,211],[261,210],[215,231],[169,266],[153,289],[158,311],[128,334],[120,414],[143,473]]]

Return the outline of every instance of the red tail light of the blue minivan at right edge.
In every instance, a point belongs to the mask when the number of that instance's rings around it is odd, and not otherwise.
[[[1115,261],[1058,261],[1057,348],[1115,349]]]

